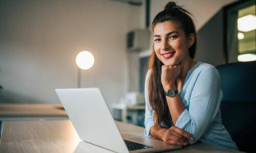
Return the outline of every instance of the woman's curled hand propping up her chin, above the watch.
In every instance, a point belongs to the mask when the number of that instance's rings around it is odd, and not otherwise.
[[[162,65],[162,73],[161,73],[161,82],[163,85],[164,91],[167,91],[172,88],[176,88],[175,81],[180,74],[181,64],[169,66]]]

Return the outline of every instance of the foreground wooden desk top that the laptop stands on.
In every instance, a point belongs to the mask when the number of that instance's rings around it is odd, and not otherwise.
[[[143,127],[116,122],[122,134],[143,136]],[[70,120],[5,121],[0,152],[112,152],[79,139]],[[203,142],[172,152],[236,152]],[[237,151],[239,152],[239,151]]]

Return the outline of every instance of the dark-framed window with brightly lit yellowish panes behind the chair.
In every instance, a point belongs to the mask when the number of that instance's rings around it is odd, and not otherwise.
[[[255,2],[245,1],[227,8],[227,62],[256,60]]]

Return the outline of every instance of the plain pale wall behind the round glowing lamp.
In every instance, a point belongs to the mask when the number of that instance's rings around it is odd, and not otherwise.
[[[0,1],[0,102],[58,104],[54,89],[77,87],[75,57],[89,50],[95,64],[81,87],[117,103],[127,90],[125,35],[141,26],[140,12],[106,0]]]

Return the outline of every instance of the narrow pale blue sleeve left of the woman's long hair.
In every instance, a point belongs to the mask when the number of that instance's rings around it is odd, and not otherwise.
[[[152,112],[152,108],[149,103],[149,97],[148,97],[148,78],[150,77],[150,71],[147,71],[146,74],[146,79],[145,79],[145,120],[144,120],[144,125],[145,125],[145,130],[144,130],[144,135],[145,136],[151,136],[150,134],[150,129],[154,125],[154,112]]]

